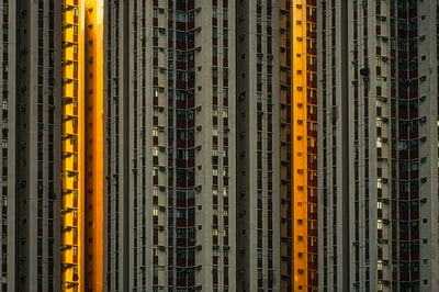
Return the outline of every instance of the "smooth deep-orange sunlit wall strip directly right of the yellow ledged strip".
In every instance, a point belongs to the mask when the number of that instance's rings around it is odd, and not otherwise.
[[[85,2],[85,284],[103,291],[103,57],[102,1]]]

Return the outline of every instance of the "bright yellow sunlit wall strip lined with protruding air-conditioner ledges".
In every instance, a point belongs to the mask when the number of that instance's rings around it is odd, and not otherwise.
[[[81,288],[81,221],[82,173],[80,143],[80,5],[78,0],[63,2],[63,227],[61,289]]]

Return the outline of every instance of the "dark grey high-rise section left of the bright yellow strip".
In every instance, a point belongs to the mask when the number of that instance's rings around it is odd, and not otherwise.
[[[2,1],[2,291],[60,278],[60,3]]]

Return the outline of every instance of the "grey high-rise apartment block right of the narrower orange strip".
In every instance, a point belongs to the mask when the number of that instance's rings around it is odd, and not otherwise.
[[[438,290],[438,5],[317,8],[319,287]]]

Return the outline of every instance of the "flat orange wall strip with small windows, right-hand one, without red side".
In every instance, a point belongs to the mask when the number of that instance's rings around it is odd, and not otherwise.
[[[306,1],[294,0],[292,11],[292,227],[293,288],[307,290],[306,269]]]

